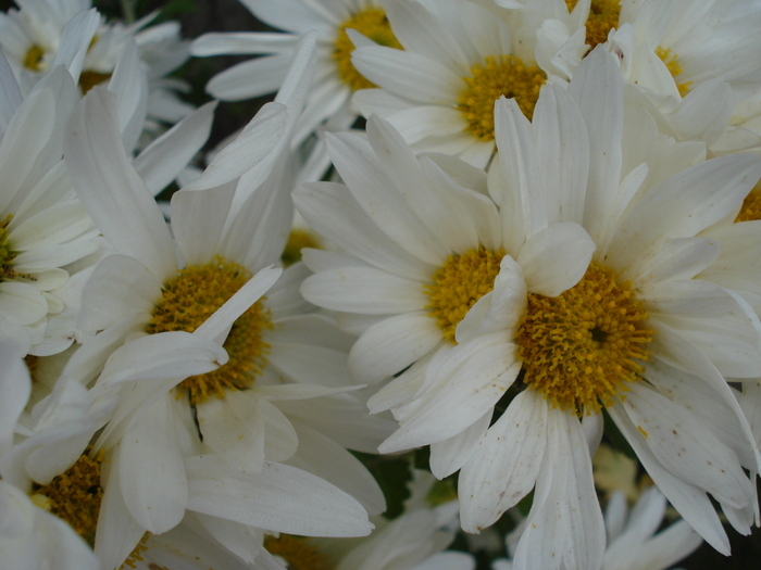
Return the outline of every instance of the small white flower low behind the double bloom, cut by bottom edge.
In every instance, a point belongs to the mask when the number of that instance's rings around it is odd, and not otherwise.
[[[656,487],[645,491],[632,509],[624,494],[615,493],[606,509],[608,546],[601,570],[666,570],[695,552],[702,540],[684,520],[660,530],[665,507],[665,497]],[[520,525],[508,536],[510,554],[523,531]],[[513,563],[500,559],[491,568],[513,570]]]

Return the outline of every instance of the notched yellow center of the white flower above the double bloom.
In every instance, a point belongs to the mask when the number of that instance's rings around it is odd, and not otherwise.
[[[495,101],[504,96],[515,99],[523,114],[531,119],[547,75],[536,65],[513,55],[488,56],[471,67],[463,77],[465,89],[458,99],[458,110],[467,123],[467,132],[483,141],[495,138]]]

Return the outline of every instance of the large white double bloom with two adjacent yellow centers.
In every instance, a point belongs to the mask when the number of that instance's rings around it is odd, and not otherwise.
[[[719,253],[699,233],[739,210],[761,164],[752,155],[677,172],[632,163],[647,151],[622,139],[624,110],[603,50],[567,91],[545,88],[533,124],[500,101],[489,187],[499,213],[486,204],[474,218],[444,174],[437,200],[424,200],[433,188],[421,170],[437,173],[432,162],[400,150],[372,118],[370,143],[332,140],[350,191],[297,194],[317,231],[353,254],[309,252],[316,275],[302,288],[316,304],[371,316],[353,320],[363,334],[352,371],[377,380],[412,364],[370,401],[400,421],[380,451],[431,444],[434,473],[462,468],[471,532],[534,489],[519,568],[599,568],[604,533],[587,439],[599,438],[602,408],[714,547],[728,552],[707,493],[740,532],[753,518],[744,468],[757,471],[758,448],[724,377],[758,376],[757,320],[737,295],[694,277]],[[637,130],[653,122],[627,123],[628,138],[645,140]],[[341,226],[328,214],[334,203]],[[707,394],[715,414],[693,411]]]

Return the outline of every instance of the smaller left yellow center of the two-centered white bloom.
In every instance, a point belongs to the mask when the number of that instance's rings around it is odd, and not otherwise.
[[[429,303],[425,306],[438,320],[444,338],[454,342],[454,330],[467,311],[494,289],[504,250],[484,248],[447,257],[434,274],[433,284],[424,286]]]

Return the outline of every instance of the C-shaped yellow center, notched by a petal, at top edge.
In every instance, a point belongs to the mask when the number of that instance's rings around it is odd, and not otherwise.
[[[376,85],[365,79],[351,64],[351,52],[354,51],[354,45],[346,34],[348,28],[355,29],[375,43],[387,48],[400,50],[402,49],[401,43],[391,31],[386,11],[379,7],[365,8],[338,26],[333,49],[333,59],[338,66],[338,77],[354,91],[372,89]]]

